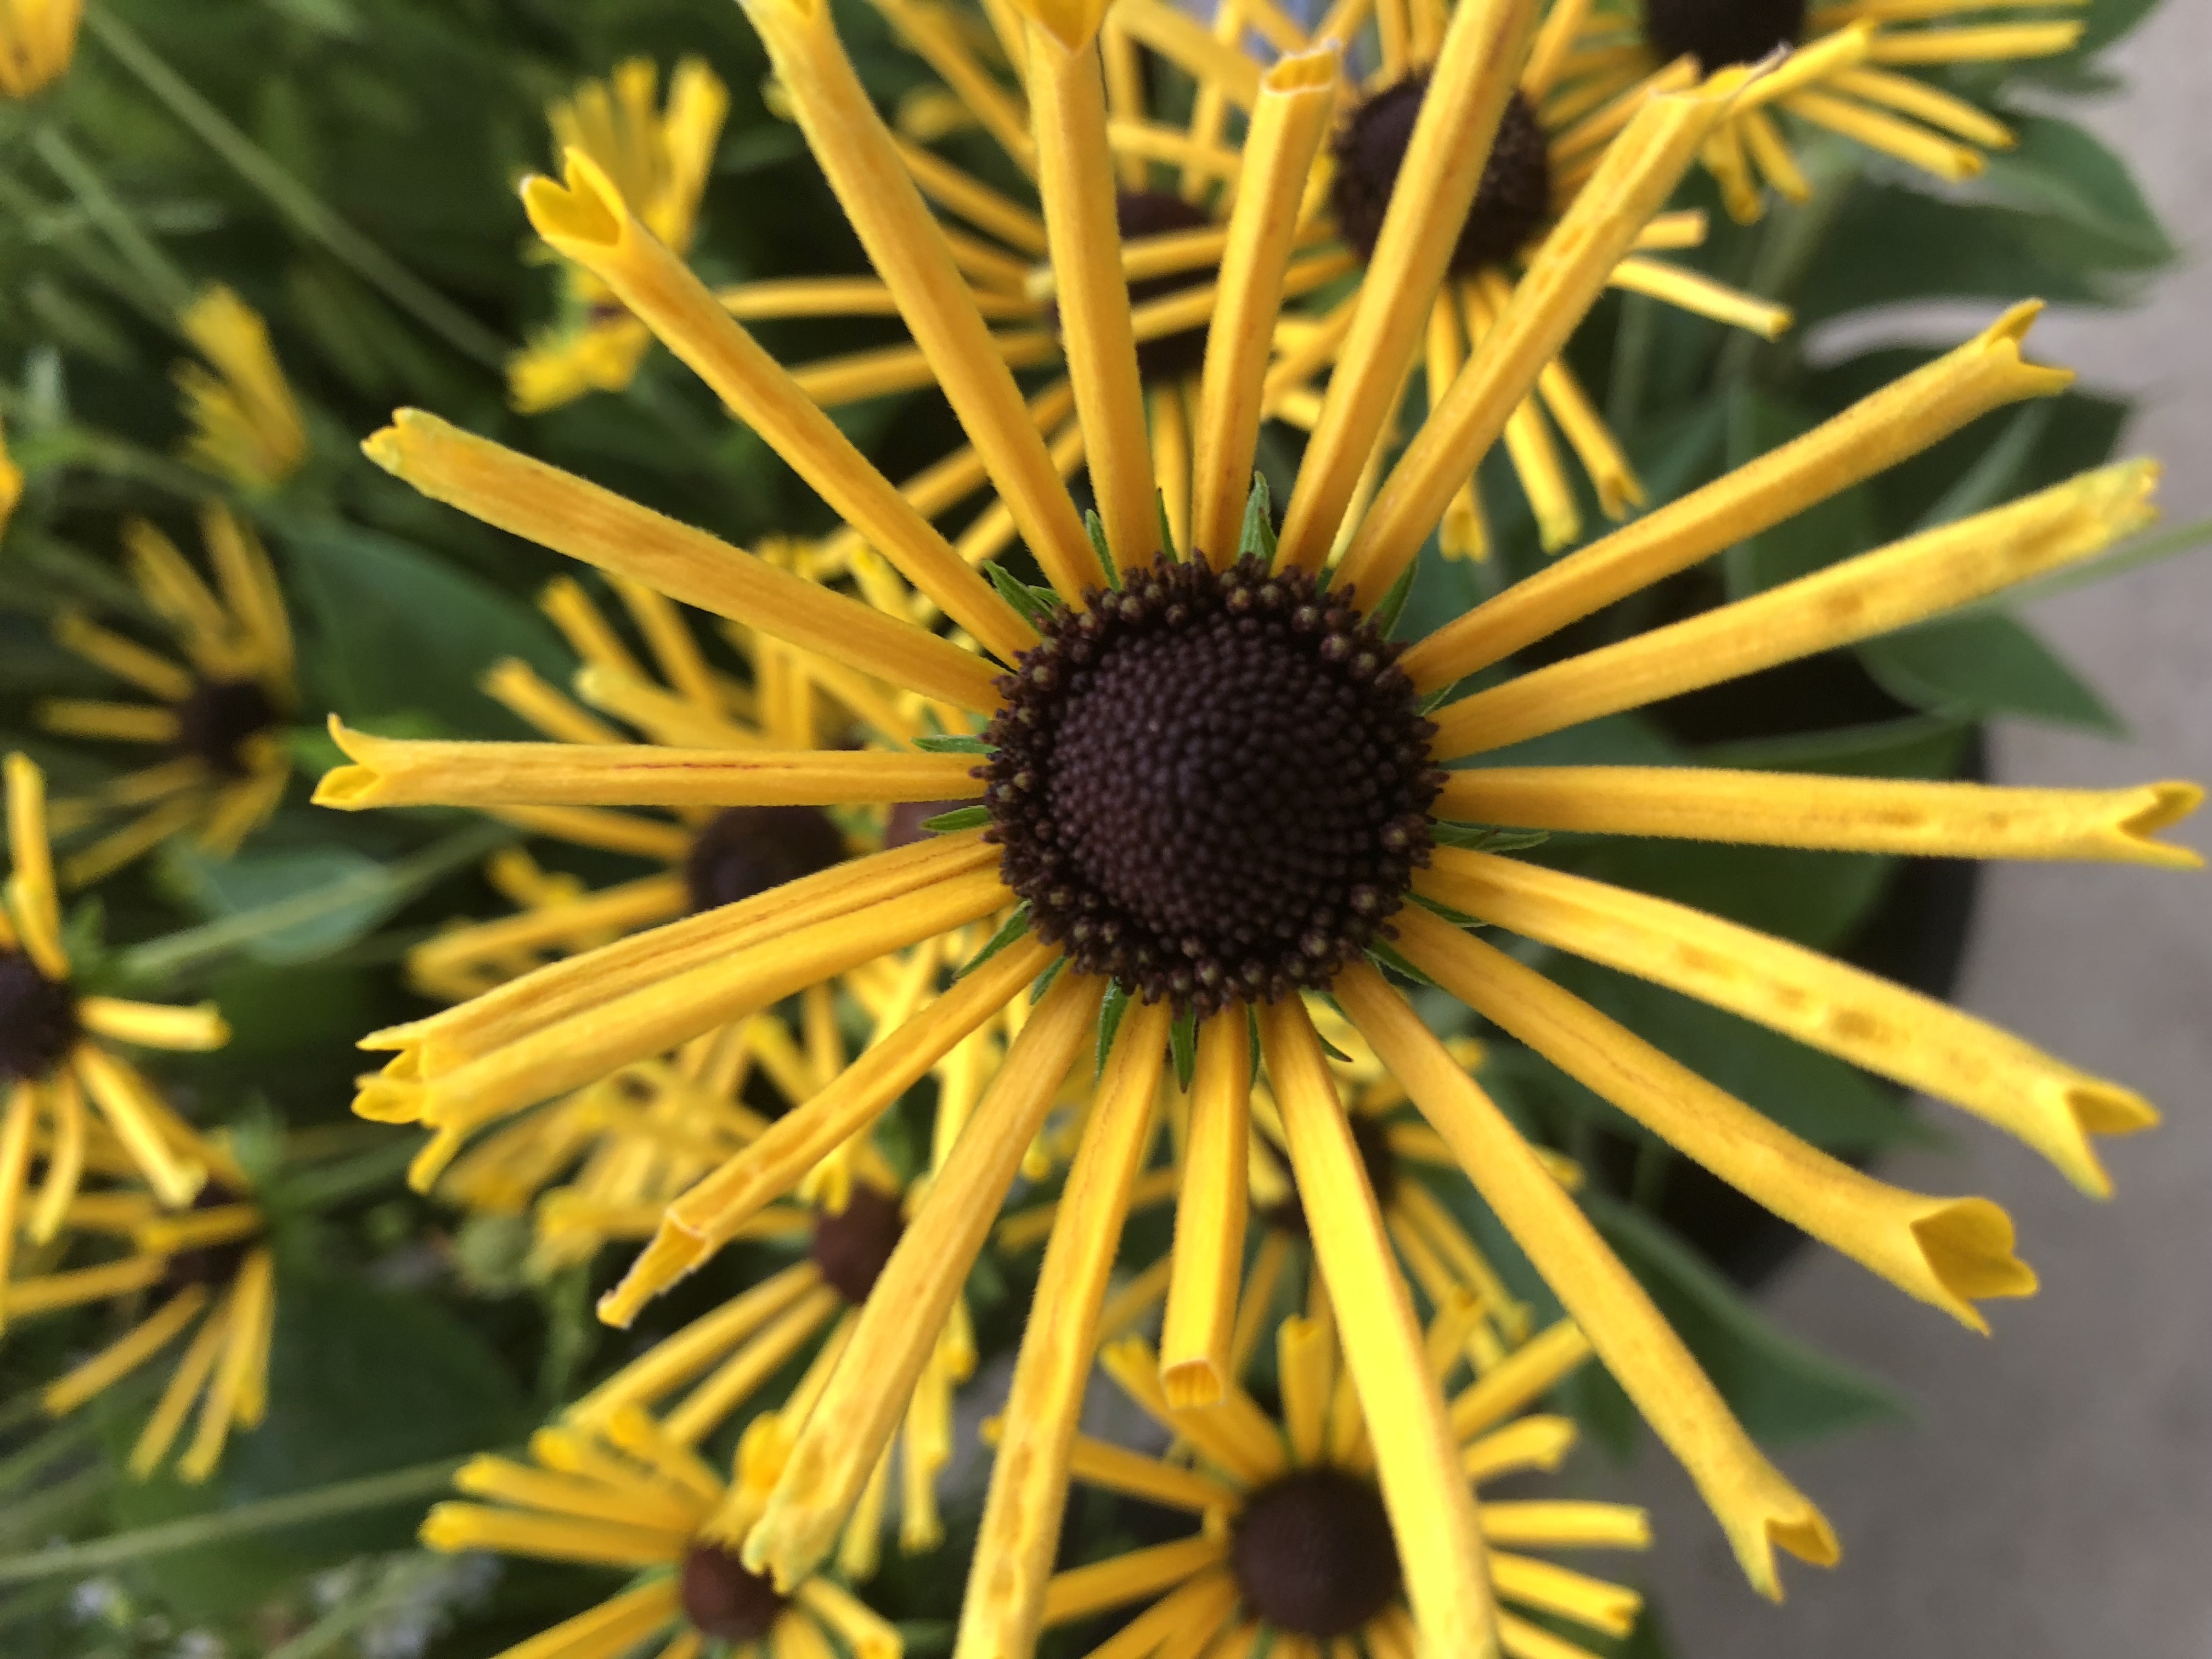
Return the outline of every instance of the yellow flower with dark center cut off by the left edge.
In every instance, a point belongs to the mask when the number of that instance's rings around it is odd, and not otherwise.
[[[199,1135],[111,1044],[208,1051],[230,1040],[212,1002],[190,1009],[86,995],[71,984],[62,905],[46,845],[46,779],[7,757],[11,872],[0,911],[0,1281],[18,1237],[46,1243],[69,1217],[84,1172],[113,1146],[168,1210],[199,1197],[210,1166]],[[104,1135],[95,1137],[95,1128]],[[113,1137],[113,1139],[108,1139]],[[33,1186],[31,1172],[42,1166]]]

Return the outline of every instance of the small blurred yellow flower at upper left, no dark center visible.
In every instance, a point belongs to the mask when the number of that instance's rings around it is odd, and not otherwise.
[[[276,489],[307,460],[307,427],[268,325],[221,285],[186,305],[177,325],[208,361],[177,365],[192,425],[184,453],[239,489]]]

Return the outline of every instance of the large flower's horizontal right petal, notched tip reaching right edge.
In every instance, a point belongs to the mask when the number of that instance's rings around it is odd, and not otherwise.
[[[1436,816],[1756,847],[2201,869],[2190,847],[2152,841],[2201,803],[2194,783],[2000,790],[1681,765],[1500,765],[1451,772]]]

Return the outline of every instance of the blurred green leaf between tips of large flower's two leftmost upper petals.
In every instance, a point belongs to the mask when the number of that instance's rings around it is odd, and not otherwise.
[[[301,664],[349,721],[427,710],[451,732],[507,732],[513,717],[478,690],[491,664],[520,657],[568,679],[568,653],[522,599],[407,542],[312,520],[283,546],[312,635]]]

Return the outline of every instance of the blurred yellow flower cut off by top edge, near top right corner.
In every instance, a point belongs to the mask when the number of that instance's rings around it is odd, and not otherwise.
[[[1763,186],[1787,201],[1812,197],[1772,111],[1840,133],[1911,168],[1958,184],[1982,170],[1982,150],[2013,148],[2013,133],[1975,104],[1898,73],[1944,64],[2051,58],[2081,40],[2084,0],[1555,0],[1553,24],[1573,35],[1559,66],[1566,108],[1615,126],[1652,91],[1686,86],[1697,64],[1743,64],[1790,46],[1787,62],[1741,100],[1705,144],[1705,168],[1730,215],[1765,212]],[[1991,20],[1991,13],[2002,13]],[[1546,24],[1551,27],[1551,24]],[[1674,62],[1666,62],[1674,60]],[[1663,66],[1661,66],[1663,64]]]

